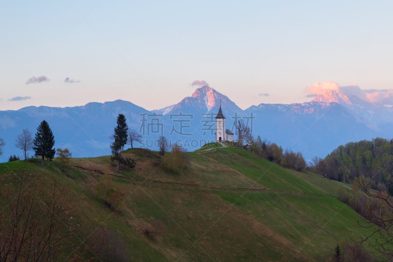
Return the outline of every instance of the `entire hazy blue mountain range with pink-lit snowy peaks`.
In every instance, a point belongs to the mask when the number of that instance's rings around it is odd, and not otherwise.
[[[130,128],[142,133],[143,141],[136,146],[154,149],[155,140],[163,134],[172,144],[191,151],[215,139],[214,117],[220,103],[228,129],[235,131],[234,121],[243,119],[254,137],[301,151],[306,160],[324,157],[348,142],[392,138],[393,108],[367,101],[361,93],[354,94],[353,87],[324,90],[302,104],[259,104],[242,110],[224,94],[204,85],[179,103],[153,111],[122,100],[0,111],[0,137],[6,143],[0,161],[7,161],[11,154],[22,155],[15,148],[16,136],[24,128],[35,133],[44,119],[53,130],[56,148],[67,147],[74,157],[110,154],[110,137],[119,113],[126,116]]]

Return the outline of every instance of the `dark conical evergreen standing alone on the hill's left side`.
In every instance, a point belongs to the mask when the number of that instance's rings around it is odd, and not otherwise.
[[[35,133],[33,144],[35,155],[41,156],[42,158],[42,166],[44,166],[45,157],[52,161],[56,152],[55,148],[53,148],[55,145],[55,137],[47,121],[43,120],[37,127],[37,133]]]

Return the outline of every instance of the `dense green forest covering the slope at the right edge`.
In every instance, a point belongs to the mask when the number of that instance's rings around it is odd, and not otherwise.
[[[392,177],[393,140],[375,138],[338,146],[314,169],[320,175],[342,182],[369,177],[371,188],[378,189],[379,184],[386,185]]]

